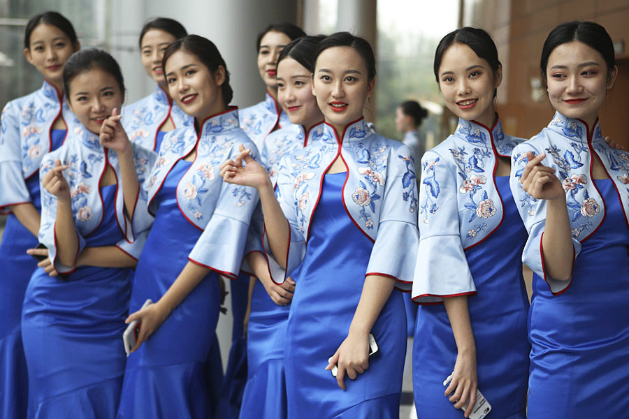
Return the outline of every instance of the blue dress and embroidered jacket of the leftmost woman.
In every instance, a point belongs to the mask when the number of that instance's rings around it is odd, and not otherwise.
[[[38,245],[8,206],[31,203],[41,212],[39,164],[58,149],[66,130],[52,129],[59,118],[74,118],[55,87],[41,89],[6,104],[0,122],[0,213],[9,214],[0,243],[0,417],[25,418],[28,402],[27,365],[22,348],[22,301],[37,261],[27,249]]]

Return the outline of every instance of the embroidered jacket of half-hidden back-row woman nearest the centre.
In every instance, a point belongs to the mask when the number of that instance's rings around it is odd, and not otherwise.
[[[268,92],[263,102],[240,110],[240,128],[243,128],[259,150],[275,125],[286,128],[292,124],[286,112]]]

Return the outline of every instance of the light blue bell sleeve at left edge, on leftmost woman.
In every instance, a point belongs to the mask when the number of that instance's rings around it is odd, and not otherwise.
[[[0,117],[0,214],[8,214],[10,205],[31,202],[22,174],[20,123],[12,103],[2,110]]]

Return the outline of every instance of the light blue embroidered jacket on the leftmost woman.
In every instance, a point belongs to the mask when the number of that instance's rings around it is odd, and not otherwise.
[[[6,104],[0,123],[0,212],[8,205],[31,202],[26,186],[50,152],[50,132],[57,117],[66,124],[74,114],[57,89],[44,81],[38,91]]]

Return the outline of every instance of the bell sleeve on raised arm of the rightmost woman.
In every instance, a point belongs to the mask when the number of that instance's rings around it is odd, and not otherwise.
[[[535,156],[540,154],[530,142],[523,142],[515,147],[511,159],[511,177],[509,178],[509,186],[511,186],[516,207],[518,207],[518,212],[528,232],[528,240],[526,240],[522,253],[522,262],[530,267],[538,277],[544,278],[553,295],[559,295],[570,287],[572,275],[568,281],[561,281],[551,278],[544,269],[542,237],[546,226],[546,200],[533,198],[524,191],[520,183],[522,172],[528,163],[526,152],[532,152]],[[547,159],[544,159],[542,164],[553,167],[551,161],[547,161]],[[572,237],[572,247],[572,266],[574,267],[574,260],[581,251],[581,243],[574,237]]]

